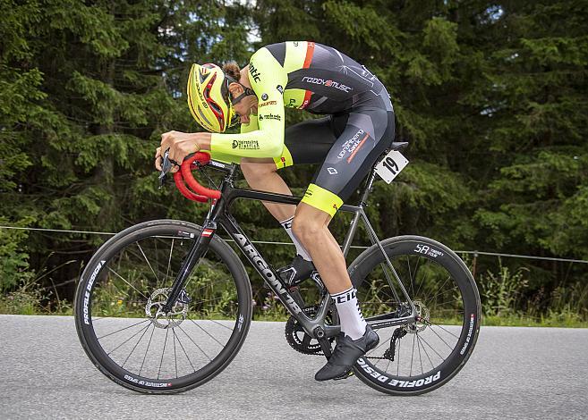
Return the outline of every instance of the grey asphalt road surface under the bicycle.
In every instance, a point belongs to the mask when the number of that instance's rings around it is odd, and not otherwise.
[[[485,327],[464,369],[418,397],[352,377],[315,382],[322,357],[252,323],[239,355],[200,388],[142,395],[109,381],[81,349],[72,317],[0,315],[0,418],[588,418],[588,330]]]

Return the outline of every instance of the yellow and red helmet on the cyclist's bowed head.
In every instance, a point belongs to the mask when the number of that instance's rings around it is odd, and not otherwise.
[[[222,133],[238,122],[229,98],[229,80],[216,64],[193,64],[188,77],[188,106],[206,130]]]

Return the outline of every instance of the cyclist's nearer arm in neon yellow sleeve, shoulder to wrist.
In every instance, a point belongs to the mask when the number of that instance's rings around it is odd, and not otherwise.
[[[284,147],[285,120],[284,100],[277,86],[285,88],[287,74],[268,49],[261,48],[251,56],[249,80],[259,99],[257,130],[244,127],[241,134],[214,133],[210,149],[243,157],[277,157]],[[253,118],[249,125],[252,123]]]

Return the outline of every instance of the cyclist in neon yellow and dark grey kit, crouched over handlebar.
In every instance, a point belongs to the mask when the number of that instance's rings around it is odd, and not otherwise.
[[[363,319],[356,290],[328,223],[394,138],[394,111],[386,88],[362,64],[330,46],[282,42],[260,48],[240,69],[228,63],[193,64],[188,104],[210,133],[166,132],[162,150],[182,162],[206,150],[241,164],[253,189],[289,194],[277,170],[321,164],[298,206],[266,204],[293,239],[298,255],[281,270],[290,285],[308,278],[314,266],[334,299],[341,334],[317,381],[343,377],[379,342]],[[285,107],[327,115],[285,129]],[[225,134],[235,123],[241,133]],[[175,168],[177,170],[177,168]]]

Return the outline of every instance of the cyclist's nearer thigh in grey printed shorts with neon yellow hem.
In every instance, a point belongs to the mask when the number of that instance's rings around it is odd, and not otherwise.
[[[335,214],[393,139],[392,111],[362,107],[349,113],[345,130],[328,151],[303,202]]]

